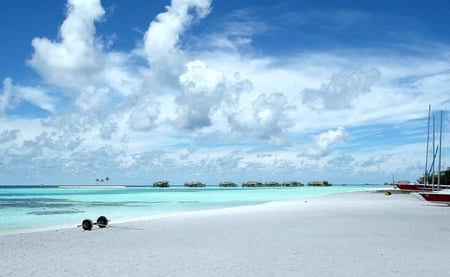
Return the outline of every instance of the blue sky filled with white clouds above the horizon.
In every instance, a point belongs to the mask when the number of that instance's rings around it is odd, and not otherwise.
[[[0,184],[415,181],[429,105],[450,166],[448,26],[438,0],[1,1]]]

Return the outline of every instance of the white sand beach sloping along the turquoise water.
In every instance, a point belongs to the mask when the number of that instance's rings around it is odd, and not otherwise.
[[[90,232],[2,235],[1,275],[450,276],[450,207],[408,194],[111,220]]]

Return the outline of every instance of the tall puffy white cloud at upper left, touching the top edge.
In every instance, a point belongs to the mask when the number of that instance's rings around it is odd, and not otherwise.
[[[51,84],[75,87],[89,79],[103,64],[94,22],[104,13],[100,0],[69,0],[59,41],[34,38],[35,51],[28,63]]]

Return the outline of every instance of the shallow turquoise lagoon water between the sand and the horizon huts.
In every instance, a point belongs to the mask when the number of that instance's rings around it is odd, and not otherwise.
[[[255,205],[380,186],[276,188],[0,187],[0,233],[76,226],[104,215],[113,222]]]

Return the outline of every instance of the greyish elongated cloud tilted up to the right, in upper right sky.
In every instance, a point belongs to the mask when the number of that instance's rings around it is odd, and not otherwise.
[[[320,110],[351,108],[355,98],[368,93],[371,86],[380,78],[380,74],[376,68],[334,74],[320,89],[303,90],[302,103]]]

